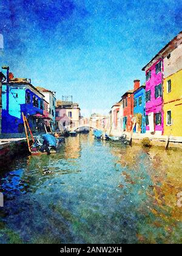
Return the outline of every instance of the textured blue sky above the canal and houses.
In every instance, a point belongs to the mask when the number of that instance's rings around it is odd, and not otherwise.
[[[181,0],[0,0],[1,65],[107,113],[182,30]]]

